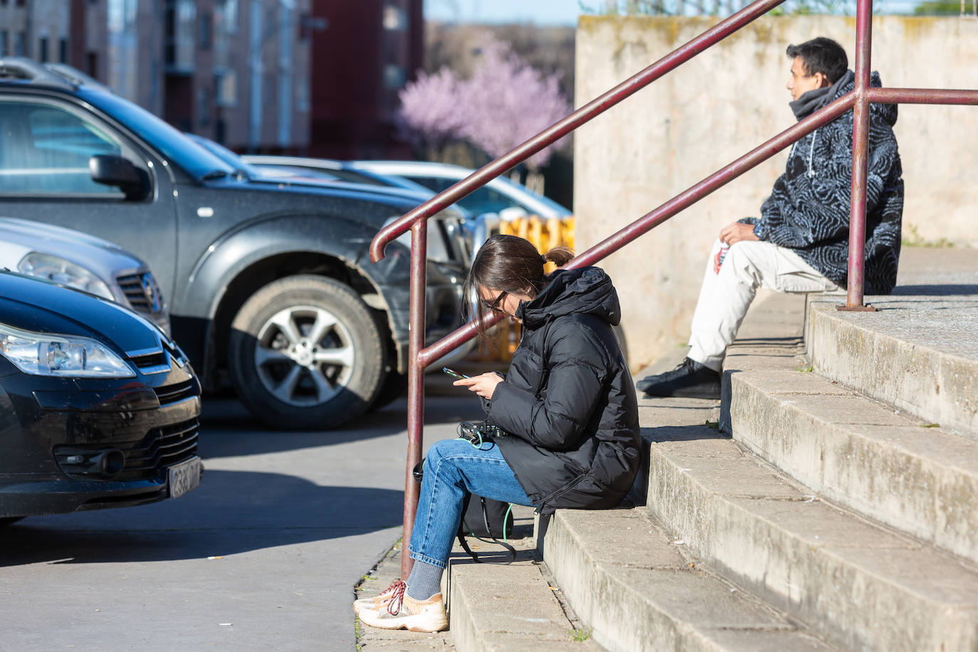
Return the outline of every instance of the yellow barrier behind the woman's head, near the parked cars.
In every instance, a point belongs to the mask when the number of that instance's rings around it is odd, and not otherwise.
[[[535,215],[507,220],[500,223],[499,233],[504,236],[518,236],[533,242],[540,253],[547,253],[556,246],[574,248],[574,218],[542,219]],[[545,271],[549,274],[556,269],[554,263],[547,263]],[[478,350],[472,358],[480,361],[509,362],[519,344],[519,325],[505,320],[489,332],[489,340],[479,340]]]

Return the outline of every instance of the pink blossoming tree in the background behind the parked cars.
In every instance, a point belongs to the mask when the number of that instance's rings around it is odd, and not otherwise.
[[[545,74],[526,64],[498,40],[480,49],[467,79],[447,67],[419,74],[400,94],[401,119],[413,142],[441,156],[453,140],[464,140],[496,158],[543,131],[570,112],[560,91],[559,73]],[[526,184],[542,192],[540,168],[560,144],[526,161]],[[518,174],[518,172],[517,172]]]

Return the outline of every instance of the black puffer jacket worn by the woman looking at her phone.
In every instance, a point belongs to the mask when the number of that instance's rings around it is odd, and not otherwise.
[[[635,386],[612,326],[618,293],[597,267],[557,270],[521,304],[523,336],[487,412],[520,486],[548,513],[617,504],[639,468]]]

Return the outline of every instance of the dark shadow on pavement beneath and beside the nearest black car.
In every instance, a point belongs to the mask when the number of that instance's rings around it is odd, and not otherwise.
[[[26,518],[3,529],[0,566],[206,559],[401,524],[404,494],[323,487],[281,473],[206,471],[179,500]]]

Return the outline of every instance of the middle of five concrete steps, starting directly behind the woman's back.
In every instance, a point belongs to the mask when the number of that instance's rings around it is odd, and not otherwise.
[[[973,565],[823,502],[710,428],[661,434],[649,508],[728,579],[845,649],[978,649]]]

